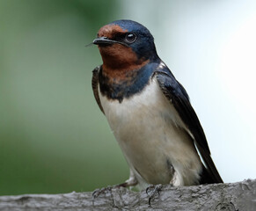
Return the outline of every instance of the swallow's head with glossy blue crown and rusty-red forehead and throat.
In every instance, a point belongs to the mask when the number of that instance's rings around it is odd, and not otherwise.
[[[150,31],[132,20],[102,26],[93,44],[98,45],[107,69],[138,69],[158,58]]]

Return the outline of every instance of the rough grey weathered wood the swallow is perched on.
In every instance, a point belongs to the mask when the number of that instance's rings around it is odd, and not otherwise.
[[[0,210],[256,210],[256,179],[207,186],[163,186],[151,200],[143,191],[112,188],[93,200],[91,193],[1,196]]]

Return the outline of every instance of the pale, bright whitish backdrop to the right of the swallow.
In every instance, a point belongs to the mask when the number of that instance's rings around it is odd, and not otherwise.
[[[150,29],[185,86],[223,180],[256,178],[256,2],[133,0],[122,9]]]

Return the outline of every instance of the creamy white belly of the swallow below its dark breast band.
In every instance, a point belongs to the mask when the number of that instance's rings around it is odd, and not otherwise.
[[[137,177],[149,184],[170,183],[172,164],[176,172],[174,186],[197,183],[200,157],[156,79],[141,93],[124,98],[121,103],[107,99],[100,91],[99,98],[113,135]]]

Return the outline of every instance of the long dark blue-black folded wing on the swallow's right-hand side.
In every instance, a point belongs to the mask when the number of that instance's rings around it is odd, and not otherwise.
[[[179,84],[172,75],[172,72],[166,67],[164,69],[157,69],[155,74],[157,75],[157,82],[165,94],[165,97],[172,102],[172,105],[179,113],[180,119],[184,122],[187,127],[186,129],[194,139],[194,144],[205,164],[206,173],[208,177],[210,177],[206,179],[203,178],[205,175],[202,175],[203,180],[208,181],[208,183],[223,183],[223,179],[216,170],[216,166],[210,156],[208,142],[201,127],[201,123],[189,102],[187,91]],[[204,170],[202,173],[204,173]]]

